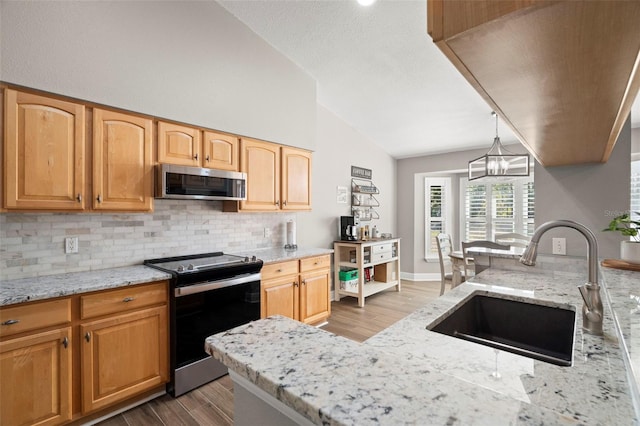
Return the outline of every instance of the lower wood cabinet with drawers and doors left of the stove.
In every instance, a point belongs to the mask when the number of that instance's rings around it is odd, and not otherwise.
[[[75,422],[161,388],[168,334],[166,281],[3,307],[0,424]]]

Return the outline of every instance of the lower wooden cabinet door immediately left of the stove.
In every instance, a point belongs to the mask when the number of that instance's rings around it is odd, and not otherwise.
[[[167,382],[167,328],[166,306],[80,326],[83,413]]]

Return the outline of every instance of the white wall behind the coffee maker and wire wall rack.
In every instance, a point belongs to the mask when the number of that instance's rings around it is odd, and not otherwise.
[[[396,161],[372,141],[358,133],[321,105],[317,108],[317,151],[313,154],[313,211],[298,213],[297,231],[309,246],[333,248],[338,239],[340,216],[351,214],[351,166],[372,170],[372,181],[380,189],[376,198],[380,232],[396,235]],[[336,202],[336,189],[349,190],[347,204]],[[401,242],[404,250],[405,242]]]

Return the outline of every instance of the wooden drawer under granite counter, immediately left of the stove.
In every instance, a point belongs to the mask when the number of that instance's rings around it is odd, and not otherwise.
[[[80,318],[93,318],[167,302],[167,283],[159,282],[80,297]]]

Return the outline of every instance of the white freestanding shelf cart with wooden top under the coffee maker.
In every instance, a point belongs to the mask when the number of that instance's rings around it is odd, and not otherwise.
[[[372,294],[391,287],[400,291],[400,239],[372,239],[368,241],[336,241],[334,249],[334,282],[336,300],[342,296],[358,298],[358,306],[364,307],[364,300]],[[365,279],[365,269],[373,268],[371,281]],[[340,286],[340,270],[358,270],[357,289],[343,289]]]

